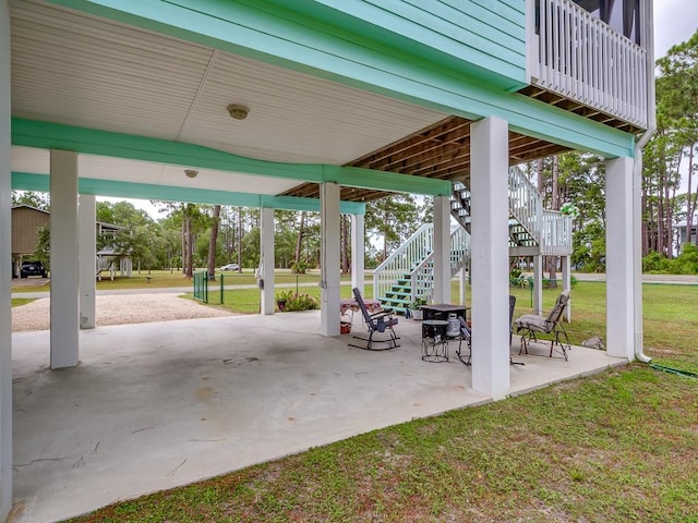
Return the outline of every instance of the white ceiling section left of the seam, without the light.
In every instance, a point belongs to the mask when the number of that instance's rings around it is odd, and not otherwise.
[[[44,3],[11,14],[13,115],[177,138],[210,49]]]

